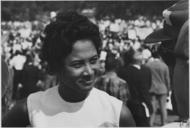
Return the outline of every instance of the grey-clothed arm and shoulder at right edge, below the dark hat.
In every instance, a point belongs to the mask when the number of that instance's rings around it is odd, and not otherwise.
[[[181,121],[189,119],[189,20],[182,26],[174,48],[176,64],[173,84]]]

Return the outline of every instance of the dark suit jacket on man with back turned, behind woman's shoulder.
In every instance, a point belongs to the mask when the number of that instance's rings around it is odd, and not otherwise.
[[[149,88],[151,86],[150,69],[145,66],[141,66],[141,69],[138,69],[129,65],[119,70],[118,75],[129,84],[131,101],[138,103],[145,102],[150,112],[152,112],[149,94]]]

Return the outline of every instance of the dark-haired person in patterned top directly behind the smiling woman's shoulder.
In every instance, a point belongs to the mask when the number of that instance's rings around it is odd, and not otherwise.
[[[119,60],[113,53],[108,53],[105,59],[106,72],[98,78],[95,87],[127,103],[130,98],[129,88],[127,82],[118,77],[118,66]]]

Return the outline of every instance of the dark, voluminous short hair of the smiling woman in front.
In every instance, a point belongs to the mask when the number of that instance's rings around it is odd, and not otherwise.
[[[77,12],[58,13],[56,20],[48,24],[42,38],[42,59],[47,61],[48,72],[60,71],[65,58],[71,53],[77,40],[89,39],[100,52],[99,28],[87,17]]]

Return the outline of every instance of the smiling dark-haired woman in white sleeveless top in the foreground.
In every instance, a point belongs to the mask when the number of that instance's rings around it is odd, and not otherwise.
[[[15,105],[3,118],[3,127],[135,126],[121,100],[94,88],[101,46],[95,24],[77,12],[59,13],[46,26],[43,43],[42,56],[57,86]]]

